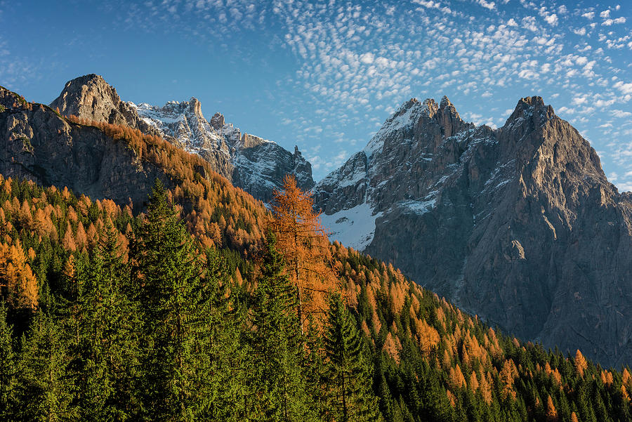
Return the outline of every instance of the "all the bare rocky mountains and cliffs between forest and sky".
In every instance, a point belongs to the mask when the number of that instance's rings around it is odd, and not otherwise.
[[[15,101],[0,90],[5,107]],[[87,75],[50,107],[20,110],[0,114],[5,176],[120,204],[142,202],[156,177],[169,180],[55,110],[162,137],[264,202],[291,173],[313,187],[332,240],[516,336],[579,348],[603,364],[632,362],[631,195],[607,181],[595,150],[539,97],[522,98],[498,129],[463,121],[447,98],[409,100],[317,185],[298,149],[241,133],[221,114],[206,120],[195,98],[126,103]]]

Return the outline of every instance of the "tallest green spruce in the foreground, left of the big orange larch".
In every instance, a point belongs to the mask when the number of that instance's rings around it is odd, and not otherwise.
[[[193,421],[212,410],[213,298],[195,242],[157,181],[131,249],[143,317],[145,418]]]

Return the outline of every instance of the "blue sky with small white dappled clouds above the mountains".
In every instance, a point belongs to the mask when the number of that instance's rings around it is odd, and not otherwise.
[[[316,179],[409,98],[496,127],[541,95],[632,190],[629,0],[2,1],[0,22],[0,84],[28,100],[87,73],[135,103],[195,96]]]

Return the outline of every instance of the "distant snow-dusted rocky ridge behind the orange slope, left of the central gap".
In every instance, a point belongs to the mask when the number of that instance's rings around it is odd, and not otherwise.
[[[268,202],[287,173],[294,174],[304,190],[314,186],[312,166],[301,152],[294,154],[257,136],[242,133],[216,113],[207,121],[196,98],[163,107],[121,101],[116,90],[98,75],[69,81],[51,103],[62,114],[112,124],[125,124],[144,133],[162,136],[188,152],[199,154],[214,170],[257,199]]]

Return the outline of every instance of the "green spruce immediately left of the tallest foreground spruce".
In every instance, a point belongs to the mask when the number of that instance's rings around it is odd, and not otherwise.
[[[88,261],[77,260],[73,277],[77,312],[72,312],[68,325],[75,327],[77,336],[69,343],[81,418],[129,420],[138,412],[134,380],[139,321],[136,305],[123,293],[129,270],[110,221]]]

